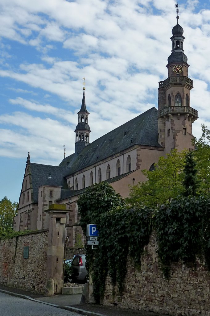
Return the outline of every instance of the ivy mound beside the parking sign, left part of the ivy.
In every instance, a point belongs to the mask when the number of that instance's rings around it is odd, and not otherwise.
[[[91,186],[79,197],[78,210],[84,233],[87,224],[97,224],[99,229],[97,250],[85,246],[87,270],[93,279],[93,295],[99,302],[104,295],[108,272],[112,284],[117,283],[119,291],[123,290],[128,254],[135,264],[141,265],[140,257],[152,229],[152,210],[126,208],[122,197],[104,182]]]

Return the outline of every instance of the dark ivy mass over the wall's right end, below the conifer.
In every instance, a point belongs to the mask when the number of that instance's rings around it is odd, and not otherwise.
[[[166,278],[171,262],[194,263],[204,256],[210,268],[210,203],[203,197],[178,197],[156,212],[158,255]]]

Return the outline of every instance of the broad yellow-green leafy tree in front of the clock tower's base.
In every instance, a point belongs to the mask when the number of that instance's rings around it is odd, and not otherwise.
[[[183,167],[185,151],[172,149],[160,157],[153,171],[142,170],[147,181],[131,187],[126,203],[156,208],[183,193]]]

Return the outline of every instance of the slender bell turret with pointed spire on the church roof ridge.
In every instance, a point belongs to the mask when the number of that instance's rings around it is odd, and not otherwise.
[[[75,154],[76,156],[80,154],[82,149],[85,148],[90,143],[90,127],[88,125],[88,114],[85,104],[85,78],[83,78],[83,97],[81,109],[78,114],[78,123],[75,129],[76,139],[75,139]]]

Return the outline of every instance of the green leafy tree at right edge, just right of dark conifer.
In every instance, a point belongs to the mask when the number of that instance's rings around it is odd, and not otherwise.
[[[198,194],[210,195],[210,130],[202,124],[202,135],[195,138],[195,161],[197,163],[197,177],[200,180]]]

